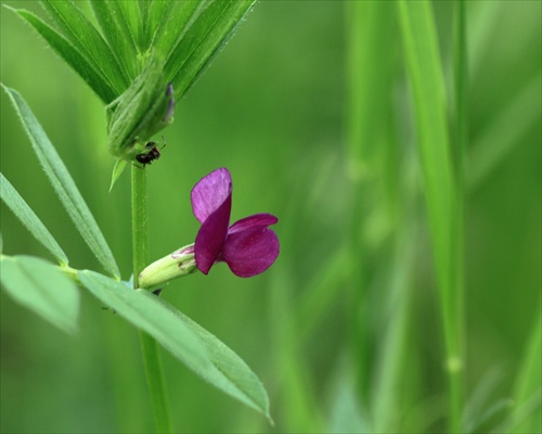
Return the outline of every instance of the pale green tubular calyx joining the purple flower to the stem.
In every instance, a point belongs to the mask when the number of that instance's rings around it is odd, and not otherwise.
[[[155,290],[172,279],[196,271],[194,244],[185,245],[170,255],[156,260],[139,275],[139,288]]]

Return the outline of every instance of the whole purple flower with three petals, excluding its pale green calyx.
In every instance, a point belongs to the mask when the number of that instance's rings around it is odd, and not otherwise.
[[[207,275],[217,261],[249,278],[266,271],[279,256],[279,239],[268,228],[278,220],[255,214],[230,226],[232,177],[227,168],[211,171],[192,189],[192,209],[202,224],[194,246],[196,266]]]

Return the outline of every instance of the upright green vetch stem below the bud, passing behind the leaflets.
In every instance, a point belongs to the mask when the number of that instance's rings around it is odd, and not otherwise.
[[[138,276],[149,264],[150,256],[146,171],[132,165],[131,179],[133,288],[138,288]],[[171,433],[169,399],[158,344],[153,337],[142,331],[140,331],[140,341],[156,432]]]

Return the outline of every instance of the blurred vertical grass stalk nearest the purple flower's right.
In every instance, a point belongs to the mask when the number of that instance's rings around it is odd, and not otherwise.
[[[362,322],[369,317],[367,282],[371,278],[370,252],[362,237],[362,225],[372,209],[374,161],[378,148],[376,136],[380,126],[384,101],[382,79],[387,56],[379,52],[379,39],[386,31],[387,4],[377,2],[349,2],[347,13],[347,88],[346,130],[348,169],[352,182],[349,224],[346,226],[346,243],[350,256],[359,264],[349,279],[349,331],[350,349],[356,366],[357,388],[362,400],[370,399],[371,336]],[[375,62],[380,55],[382,62]],[[380,102],[380,103],[378,103]]]

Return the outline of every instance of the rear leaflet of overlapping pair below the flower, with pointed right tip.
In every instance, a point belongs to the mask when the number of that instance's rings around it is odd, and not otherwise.
[[[153,297],[175,314],[189,329],[192,330],[205,344],[209,354],[211,366],[190,365],[183,354],[173,353],[189,368],[202,376],[205,381],[220,388],[228,395],[238,399],[248,407],[266,416],[270,421],[269,398],[258,376],[232,349],[224,345],[218,337],[209,333],[199,324],[191,320],[184,314],[162,298],[144,290],[138,290],[146,297]]]

